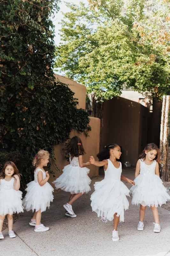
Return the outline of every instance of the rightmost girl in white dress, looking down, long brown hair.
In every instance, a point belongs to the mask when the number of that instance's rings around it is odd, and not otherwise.
[[[155,159],[155,160],[154,160]],[[159,178],[160,152],[154,144],[147,144],[136,165],[135,186],[132,186],[132,204],[140,204],[139,224],[137,230],[144,230],[144,214],[146,206],[151,207],[155,222],[154,232],[160,232],[158,205],[170,200],[166,188]]]

